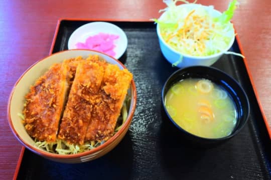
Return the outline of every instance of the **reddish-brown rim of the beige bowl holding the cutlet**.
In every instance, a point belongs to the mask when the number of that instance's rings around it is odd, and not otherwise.
[[[20,82],[20,80],[23,78],[23,76],[31,69],[33,68],[37,63],[43,61],[43,60],[46,60],[47,58],[55,55],[55,54],[59,54],[59,53],[65,53],[67,51],[89,51],[89,52],[98,52],[98,53],[102,53],[104,54],[105,56],[108,56],[110,58],[112,58],[113,60],[115,60],[120,66],[122,66],[123,68],[126,68],[124,64],[122,64],[122,62],[120,62],[118,59],[112,57],[112,56],[109,56],[103,52],[99,52],[99,51],[96,51],[96,50],[90,50],[90,49],[68,49],[68,50],[62,50],[62,51],[59,51],[59,52],[56,52],[56,53],[53,53],[53,54],[50,54],[50,55],[47,55],[46,57],[36,61],[35,63],[33,63],[27,70],[25,70],[23,72],[23,74],[19,77],[19,79],[16,81],[16,83],[13,85],[13,88],[11,90],[11,93],[10,93],[10,96],[9,96],[9,100],[8,100],[8,121],[9,121],[9,125],[10,125],[10,128],[12,129],[12,132],[13,134],[16,136],[16,138],[25,146],[27,147],[29,150],[39,154],[39,155],[42,155],[42,156],[45,156],[45,157],[49,157],[49,158],[57,158],[57,159],[72,159],[72,158],[78,158],[78,157],[82,157],[82,156],[86,156],[86,155],[89,155],[89,154],[93,154],[95,152],[98,152],[100,150],[103,150],[104,148],[106,147],[109,147],[110,144],[112,144],[112,142],[117,139],[120,134],[123,133],[123,131],[128,128],[131,120],[132,120],[132,117],[133,117],[133,114],[134,114],[134,111],[135,111],[135,107],[137,105],[137,90],[136,90],[136,87],[135,87],[135,83],[134,83],[134,80],[132,78],[131,80],[131,86],[130,88],[132,89],[132,96],[133,96],[133,101],[132,101],[132,104],[130,104],[131,106],[131,111],[130,113],[128,113],[128,116],[125,120],[125,122],[123,123],[122,127],[112,136],[110,137],[107,141],[105,141],[103,144],[99,145],[98,147],[96,148],[93,148],[93,149],[90,149],[90,150],[87,150],[85,152],[80,152],[80,153],[76,153],[76,154],[57,154],[57,153],[52,153],[52,152],[47,152],[47,151],[43,151],[35,146],[32,146],[30,145],[29,143],[27,143],[20,135],[19,133],[16,131],[16,129],[14,128],[14,125],[12,123],[12,118],[11,118],[11,100],[13,98],[13,94],[14,94],[14,90],[17,86],[17,84]],[[78,55],[79,56],[79,55]],[[64,59],[63,59],[64,60]]]

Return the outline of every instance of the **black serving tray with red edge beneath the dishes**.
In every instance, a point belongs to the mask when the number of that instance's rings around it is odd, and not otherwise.
[[[51,52],[67,49],[71,33],[86,20],[61,20]],[[161,90],[177,68],[161,53],[153,22],[110,21],[128,37],[119,59],[133,73],[138,102],[123,140],[99,159],[80,164],[54,162],[25,149],[18,179],[270,179],[270,139],[244,59],[223,55],[214,67],[246,91],[250,116],[242,131],[213,148],[193,147],[163,118]],[[235,40],[232,51],[240,53]]]

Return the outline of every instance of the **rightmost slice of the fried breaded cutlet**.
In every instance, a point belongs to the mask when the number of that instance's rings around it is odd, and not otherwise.
[[[97,102],[92,107],[85,141],[107,140],[113,135],[117,118],[132,80],[132,74],[117,65],[105,68]]]

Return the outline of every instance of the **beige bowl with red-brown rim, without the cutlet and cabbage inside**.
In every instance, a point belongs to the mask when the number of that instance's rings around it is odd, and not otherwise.
[[[36,154],[39,154],[45,158],[54,161],[66,163],[80,163],[101,157],[102,155],[112,150],[124,137],[131,123],[132,116],[135,110],[135,105],[137,102],[137,92],[133,79],[128,90],[128,93],[131,96],[131,101],[130,107],[128,109],[127,119],[122,124],[121,128],[107,141],[105,141],[100,146],[85,152],[61,155],[47,152],[43,148],[36,146],[32,137],[27,133],[22,123],[22,119],[18,115],[18,113],[21,113],[24,108],[25,95],[29,92],[29,87],[33,85],[36,79],[42,74],[44,74],[44,72],[46,72],[53,63],[59,63],[62,62],[64,59],[69,59],[76,56],[82,56],[84,58],[94,54],[99,55],[100,58],[103,58],[108,63],[117,64],[120,69],[126,68],[120,61],[104,53],[94,50],[73,49],[57,52],[37,61],[32,66],[30,66],[18,79],[10,94],[8,103],[8,118],[10,127],[14,135],[26,148]]]

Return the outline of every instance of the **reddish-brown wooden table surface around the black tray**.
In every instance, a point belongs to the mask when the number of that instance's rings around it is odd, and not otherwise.
[[[224,10],[230,0],[198,0]],[[239,0],[233,22],[266,119],[271,124],[271,2]],[[22,145],[7,119],[10,91],[20,75],[48,55],[59,18],[149,20],[162,0],[2,0],[0,2],[0,179],[13,177]]]

